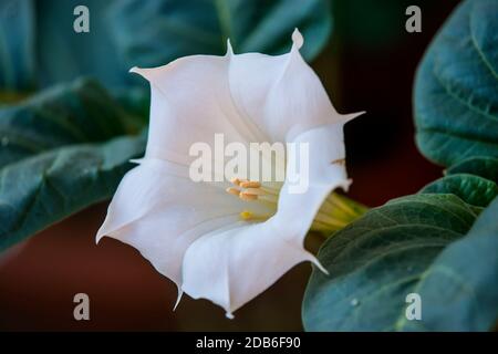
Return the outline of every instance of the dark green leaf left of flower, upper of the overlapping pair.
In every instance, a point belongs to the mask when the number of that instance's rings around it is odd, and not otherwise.
[[[96,82],[76,80],[0,107],[0,168],[55,147],[136,134],[133,117]]]

